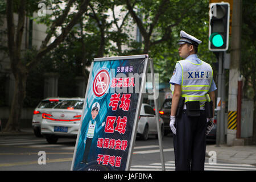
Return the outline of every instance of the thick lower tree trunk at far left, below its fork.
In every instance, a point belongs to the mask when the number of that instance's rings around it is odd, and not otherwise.
[[[23,101],[26,96],[27,71],[21,64],[16,66],[16,68],[16,72],[13,72],[15,78],[14,96],[11,103],[9,120],[4,131],[20,131],[19,122],[22,113]]]

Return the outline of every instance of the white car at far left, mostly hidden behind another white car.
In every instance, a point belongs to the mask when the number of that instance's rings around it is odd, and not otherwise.
[[[38,106],[36,106],[33,117],[32,117],[32,128],[34,130],[34,134],[36,137],[42,137],[41,135],[41,122],[42,122],[42,114],[44,111],[51,109],[52,107],[59,104],[61,101],[66,98],[62,97],[48,97],[42,100]]]

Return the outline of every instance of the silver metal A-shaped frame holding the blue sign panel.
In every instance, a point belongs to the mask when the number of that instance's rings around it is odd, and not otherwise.
[[[144,68],[143,68],[143,76],[142,76],[142,82],[140,86],[140,92],[139,92],[139,97],[138,97],[138,104],[137,104],[137,109],[135,113],[135,118],[134,118],[134,124],[133,124],[133,132],[131,134],[131,140],[130,140],[130,146],[129,146],[129,152],[127,155],[127,162],[126,162],[126,167],[125,170],[129,171],[131,167],[131,155],[133,154],[133,149],[134,149],[134,144],[135,144],[135,139],[137,135],[137,127],[138,127],[138,121],[139,121],[139,114],[141,112],[141,106],[142,106],[142,98],[143,98],[143,93],[142,90],[146,85],[146,73],[148,70],[148,67],[150,67],[151,71],[151,79],[152,79],[152,88],[153,88],[153,94],[155,98],[155,93],[156,93],[156,88],[155,88],[155,80],[154,80],[154,65],[152,59],[148,57],[148,55],[134,55],[134,56],[117,56],[117,57],[101,57],[101,58],[95,58],[92,61],[91,69],[90,69],[90,74],[88,78],[88,83],[92,79],[92,71],[93,71],[93,65],[94,62],[96,61],[112,61],[112,60],[125,60],[125,59],[143,59],[145,60]],[[85,101],[86,98],[88,97],[88,90],[89,86],[86,88],[86,93],[85,93]],[[72,165],[71,165],[71,171],[73,170],[74,164],[75,164],[75,158],[76,158],[76,153],[77,153],[77,144],[79,143],[79,136],[81,132],[81,126],[82,126],[82,121],[84,120],[85,114],[85,105],[83,106],[82,109],[82,118],[79,126],[79,133],[77,134],[77,139],[76,139],[76,146],[73,154],[73,160],[72,160]],[[163,156],[163,145],[162,145],[162,134],[160,130],[160,124],[159,124],[159,113],[158,113],[158,104],[156,99],[154,100],[154,105],[155,105],[155,113],[156,113],[156,126],[158,130],[158,140],[159,140],[159,150],[160,150],[160,160],[162,163],[162,169],[165,170],[165,165],[164,165],[164,156]]]

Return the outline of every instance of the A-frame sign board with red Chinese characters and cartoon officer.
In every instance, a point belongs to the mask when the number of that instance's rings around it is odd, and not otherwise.
[[[165,170],[154,67],[148,55],[93,60],[71,170],[130,170],[148,67]]]

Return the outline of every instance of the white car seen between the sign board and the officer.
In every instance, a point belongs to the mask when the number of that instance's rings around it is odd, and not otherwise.
[[[164,134],[164,122],[163,119],[159,117],[161,134]],[[148,139],[148,135],[155,135],[158,138],[158,129],[156,126],[156,115],[152,106],[148,104],[142,104],[141,114],[139,116],[137,135],[139,135],[143,140]]]

